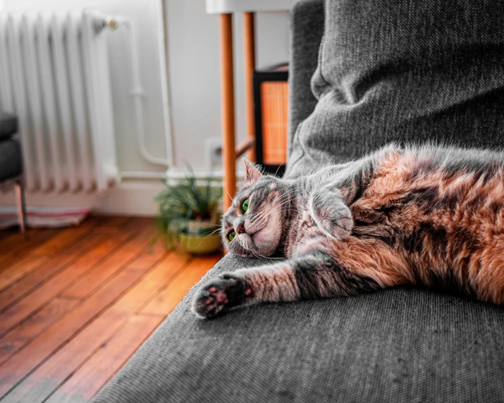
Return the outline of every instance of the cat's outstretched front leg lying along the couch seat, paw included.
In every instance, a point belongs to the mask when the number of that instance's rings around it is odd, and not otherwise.
[[[369,278],[343,273],[324,254],[306,254],[271,266],[223,273],[200,288],[192,309],[199,318],[210,318],[252,302],[348,296],[376,288]]]

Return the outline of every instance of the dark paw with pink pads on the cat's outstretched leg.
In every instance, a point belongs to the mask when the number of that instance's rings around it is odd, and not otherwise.
[[[213,318],[226,314],[233,306],[241,305],[252,290],[245,285],[242,275],[223,273],[209,280],[196,293],[192,311],[198,318]]]

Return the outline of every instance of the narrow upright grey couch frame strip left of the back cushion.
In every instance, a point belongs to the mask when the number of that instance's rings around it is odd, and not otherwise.
[[[297,126],[315,109],[310,80],[324,35],[324,0],[300,0],[291,13],[289,66],[289,154]]]

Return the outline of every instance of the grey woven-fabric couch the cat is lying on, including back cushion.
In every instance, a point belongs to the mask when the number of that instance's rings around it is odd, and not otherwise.
[[[502,6],[325,6],[324,13],[321,0],[302,0],[292,13],[287,175],[391,140],[504,144],[504,75],[494,76],[504,66],[495,63],[504,58]],[[203,280],[261,263],[228,255]],[[190,312],[194,292],[95,403],[504,401],[499,306],[402,287],[258,304],[200,321]]]

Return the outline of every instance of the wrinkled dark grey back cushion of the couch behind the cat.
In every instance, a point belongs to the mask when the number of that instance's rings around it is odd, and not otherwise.
[[[504,4],[493,0],[327,0],[312,89],[287,176],[389,142],[501,148]]]

